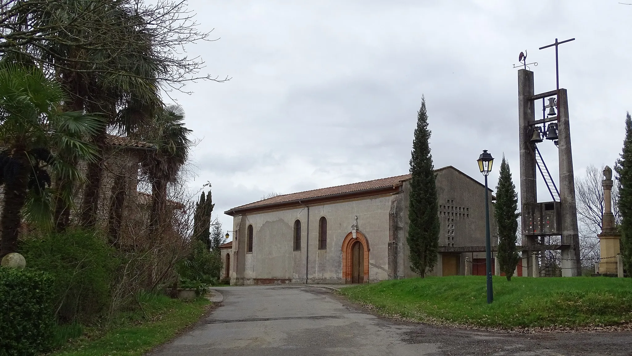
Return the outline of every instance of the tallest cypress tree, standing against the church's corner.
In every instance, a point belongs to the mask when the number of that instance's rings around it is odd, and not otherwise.
[[[439,202],[435,183],[430,130],[425,97],[417,113],[417,127],[410,158],[410,207],[408,208],[408,249],[413,272],[425,277],[437,263],[439,252]]]

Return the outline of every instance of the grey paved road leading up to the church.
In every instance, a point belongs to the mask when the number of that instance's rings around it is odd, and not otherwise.
[[[319,287],[219,291],[217,310],[152,355],[632,356],[632,333],[498,334],[382,319]]]

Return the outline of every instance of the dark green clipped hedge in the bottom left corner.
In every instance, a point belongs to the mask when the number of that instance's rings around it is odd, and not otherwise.
[[[54,321],[54,279],[31,269],[0,267],[0,355],[46,350]]]

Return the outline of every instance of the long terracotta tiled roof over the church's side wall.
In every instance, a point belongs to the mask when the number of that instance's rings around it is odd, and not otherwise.
[[[284,195],[277,195],[276,197],[259,200],[243,206],[234,207],[235,209],[245,209],[250,207],[268,206],[272,204],[279,204],[283,202],[292,202],[303,199],[311,199],[317,197],[327,197],[329,195],[336,195],[342,193],[362,192],[363,190],[372,190],[377,188],[393,187],[401,184],[401,181],[410,179],[410,175],[394,176],[389,178],[381,178],[376,180],[361,181],[360,183],[351,183],[345,185],[338,185],[337,187],[320,188],[314,190],[307,190],[306,192],[298,192]]]

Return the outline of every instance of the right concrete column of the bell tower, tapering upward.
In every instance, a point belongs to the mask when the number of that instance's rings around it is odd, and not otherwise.
[[[569,125],[566,89],[557,92],[557,143],[559,147],[559,197],[562,207],[562,243],[570,249],[562,250],[562,277],[580,276],[580,234],[577,228],[575,178],[571,127]]]

